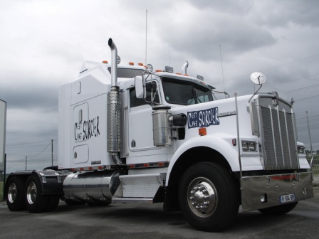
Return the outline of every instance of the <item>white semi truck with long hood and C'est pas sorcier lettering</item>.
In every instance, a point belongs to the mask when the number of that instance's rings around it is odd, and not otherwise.
[[[297,143],[293,102],[276,92],[214,99],[201,77],[172,68],[85,62],[59,89],[58,166],[17,171],[6,182],[11,211],[53,211],[60,199],[163,203],[198,230],[218,231],[243,211],[291,211],[313,197]],[[262,85],[261,73],[251,80]]]

